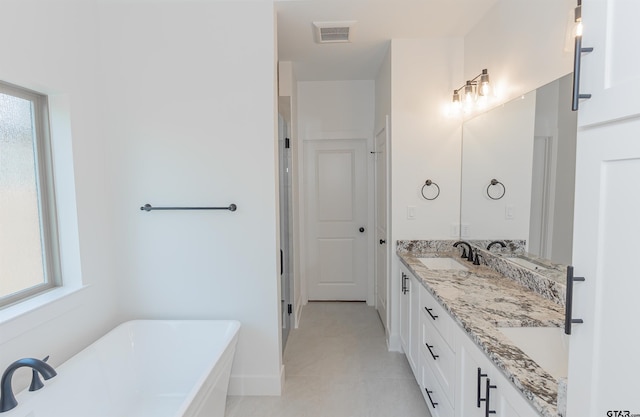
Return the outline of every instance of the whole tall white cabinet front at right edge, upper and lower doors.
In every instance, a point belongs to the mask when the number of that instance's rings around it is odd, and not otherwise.
[[[568,417],[640,413],[640,58],[636,0],[584,0]],[[624,91],[623,91],[624,89]],[[619,120],[626,118],[625,120]]]

